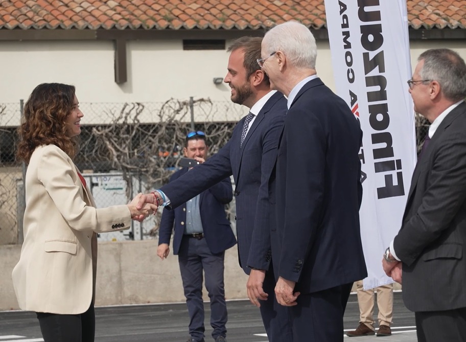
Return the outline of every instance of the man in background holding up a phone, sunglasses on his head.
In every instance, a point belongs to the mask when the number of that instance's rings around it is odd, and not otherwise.
[[[190,132],[184,142],[184,156],[204,163],[208,146],[203,132]],[[170,181],[189,172],[183,168]],[[202,302],[202,270],[205,288],[211,300],[212,336],[216,342],[225,342],[227,311],[223,283],[225,250],[236,244],[225,204],[233,199],[230,178],[225,178],[175,210],[164,210],[160,221],[157,255],[164,260],[170,253],[173,236],[173,254],[178,262],[184,295],[190,315],[189,342],[204,341],[204,305]]]

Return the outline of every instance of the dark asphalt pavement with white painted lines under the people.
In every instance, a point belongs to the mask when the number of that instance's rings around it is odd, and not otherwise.
[[[205,341],[213,341],[209,326],[210,310],[205,303]],[[249,301],[228,301],[228,342],[266,342],[259,309]],[[374,316],[377,317],[377,305]],[[376,318],[377,321],[377,318]],[[188,311],[185,303],[110,306],[96,308],[96,342],[185,342],[188,337]],[[356,294],[349,298],[344,329],[355,330],[359,324]],[[401,293],[394,293],[391,336],[347,337],[348,342],[417,341],[414,314],[403,305]],[[0,342],[42,342],[35,313],[0,312]],[[325,342],[325,341],[322,341]]]

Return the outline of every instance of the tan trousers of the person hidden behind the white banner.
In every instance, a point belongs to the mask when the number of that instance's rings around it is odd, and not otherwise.
[[[379,327],[390,326],[393,318],[393,284],[382,285],[375,289],[365,290],[362,280],[356,282],[359,303],[359,323],[364,323],[372,330],[374,328],[374,297],[377,291],[377,307],[379,308]]]

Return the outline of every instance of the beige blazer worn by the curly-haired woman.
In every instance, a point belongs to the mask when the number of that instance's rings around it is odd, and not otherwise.
[[[24,243],[12,273],[19,307],[83,313],[94,299],[96,233],[128,229],[130,211],[96,209],[72,159],[55,145],[33,152],[25,186]]]

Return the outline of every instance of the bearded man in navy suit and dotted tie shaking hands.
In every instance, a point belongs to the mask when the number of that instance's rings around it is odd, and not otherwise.
[[[288,310],[278,305],[273,290],[272,212],[268,200],[268,179],[287,108],[283,94],[270,90],[269,79],[258,65],[261,41],[258,37],[243,37],[228,49],[231,53],[224,82],[231,88],[231,101],[250,108],[250,113],[235,127],[231,139],[208,161],[162,187],[160,192],[156,191],[158,197],[146,195],[140,203],[158,202],[175,208],[233,175],[238,257],[240,266],[249,275],[246,285],[249,300],[260,307],[271,342],[292,342]]]

